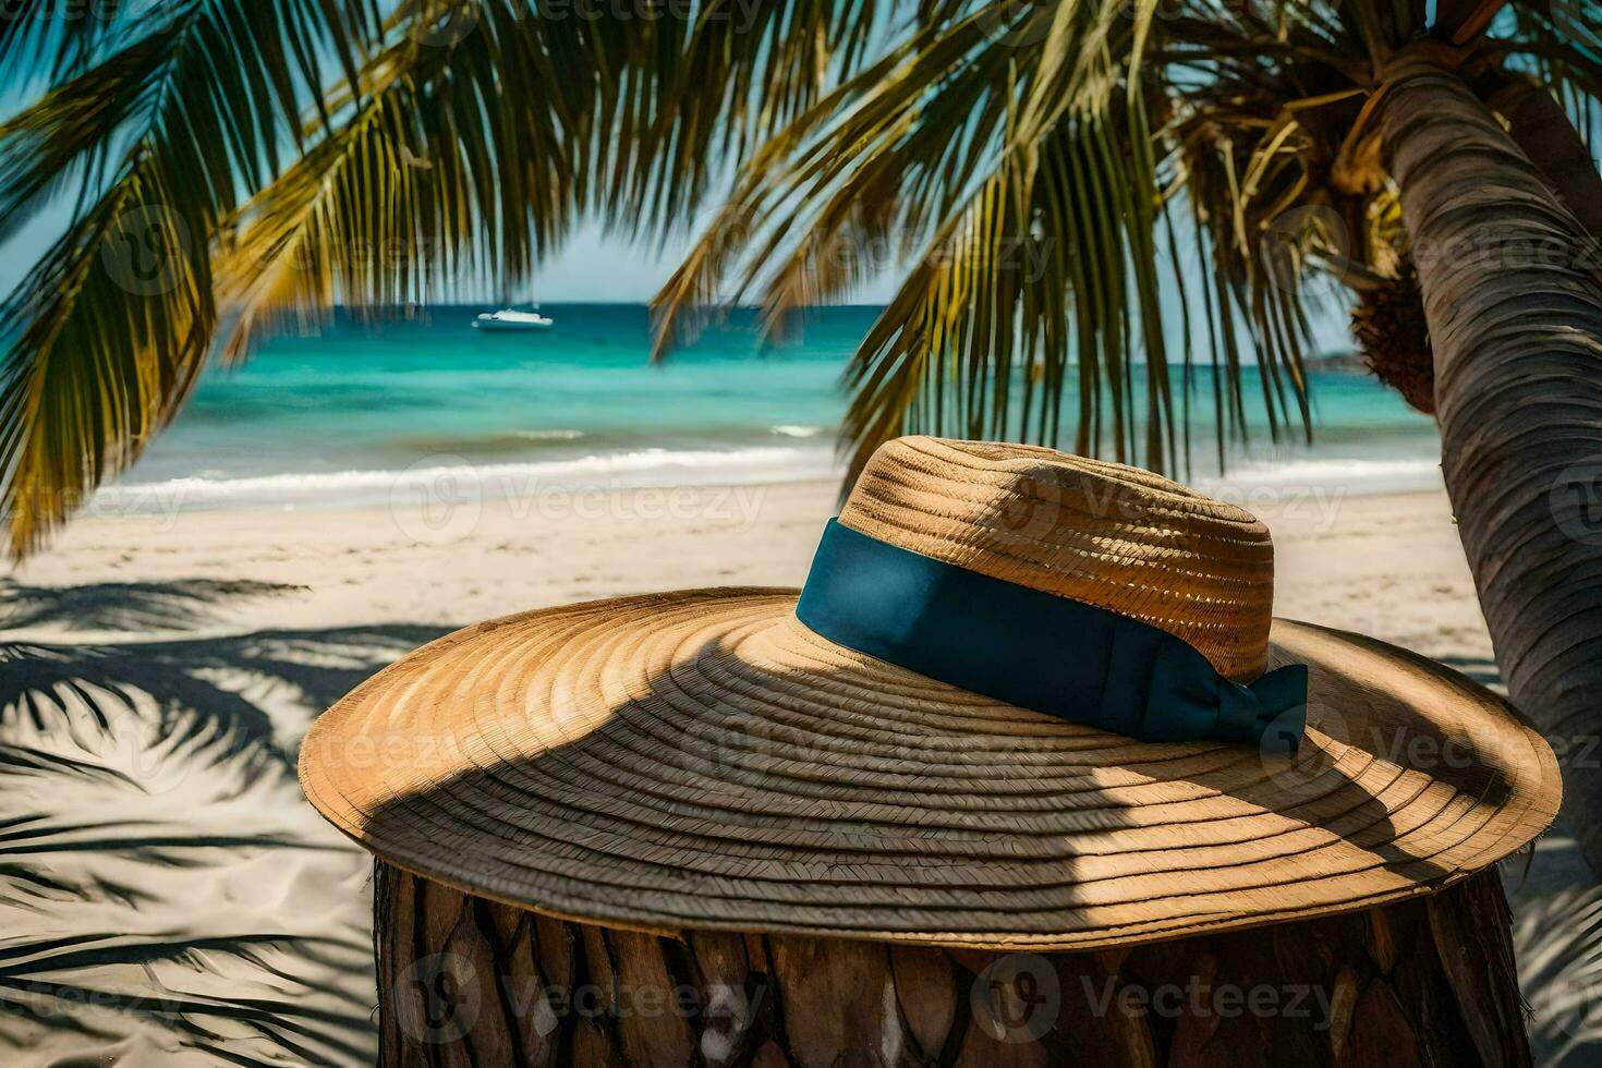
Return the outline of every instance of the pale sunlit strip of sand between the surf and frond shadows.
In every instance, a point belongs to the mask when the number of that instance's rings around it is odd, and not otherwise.
[[[11,620],[29,640],[127,640],[242,628],[460,626],[551,604],[684,586],[795,586],[833,482],[530,498],[452,506],[91,517],[18,568],[21,586],[78,588],[70,612]],[[445,496],[444,493],[441,495]],[[1275,538],[1275,613],[1429,656],[1483,663],[1490,639],[1443,493],[1288,490],[1248,501]],[[208,580],[235,594],[138,626],[87,610],[119,584]],[[133,596],[133,591],[128,591]],[[111,605],[106,605],[107,608]]]

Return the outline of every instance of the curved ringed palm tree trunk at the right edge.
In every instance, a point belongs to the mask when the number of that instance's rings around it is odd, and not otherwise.
[[[1514,705],[1602,873],[1602,269],[1469,86],[1407,59],[1381,115],[1435,352],[1442,469]]]

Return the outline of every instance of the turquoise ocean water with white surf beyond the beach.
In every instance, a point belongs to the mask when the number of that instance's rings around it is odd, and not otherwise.
[[[271,341],[240,370],[211,370],[103,495],[133,506],[316,508],[381,501],[396,472],[471,469],[543,492],[830,477],[839,471],[841,370],[876,314],[819,309],[790,341],[764,349],[755,314],[737,312],[652,367],[638,304],[548,304],[556,327],[532,335],[471,330],[479,311],[341,315],[314,336]],[[1211,379],[1197,376],[1198,485],[1439,484],[1434,424],[1371,378],[1314,376],[1310,448],[1299,432],[1269,440],[1254,370],[1248,379],[1256,434],[1221,476]]]

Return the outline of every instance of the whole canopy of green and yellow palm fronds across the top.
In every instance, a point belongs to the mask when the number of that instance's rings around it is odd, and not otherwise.
[[[139,455],[224,317],[240,357],[279,315],[511,288],[585,215],[681,227],[731,167],[655,301],[657,352],[729,299],[761,299],[777,333],[904,272],[847,375],[859,458],[926,429],[1177,469],[1211,379],[1222,463],[1254,423],[1309,421],[1304,280],[1384,285],[1407,255],[1365,115],[1376,61],[1426,27],[1418,0],[386,11],[178,0],[0,32],[0,64],[59,72],[0,128],[0,234],[64,189],[82,203],[0,306],[14,554]],[[1475,48],[1591,133],[1599,19],[1514,3]],[[160,291],[117,283],[133,253]]]

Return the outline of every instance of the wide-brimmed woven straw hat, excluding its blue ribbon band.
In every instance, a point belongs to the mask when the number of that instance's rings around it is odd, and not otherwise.
[[[908,437],[879,450],[838,525],[886,560],[1181,639],[1232,693],[1306,664],[1282,676],[1306,679],[1306,735],[1291,756],[1139,741],[830,640],[795,591],[694,589],[412,653],[312,727],[308,797],[392,865],[556,916],[992,950],[1424,893],[1557,812],[1552,751],[1503,701],[1381,642],[1272,620],[1264,525],[1158,476]],[[977,610],[873,583],[855,597],[879,616]],[[1057,655],[1001,682],[1081,669],[1094,636],[1051,637]],[[996,656],[1012,653],[979,669]]]

